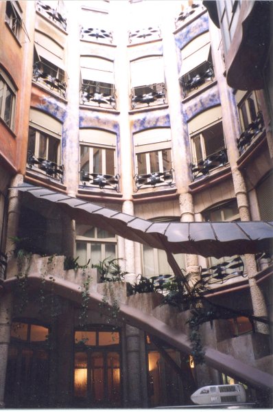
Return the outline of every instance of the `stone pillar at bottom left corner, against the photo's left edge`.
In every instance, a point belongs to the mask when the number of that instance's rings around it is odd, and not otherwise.
[[[8,365],[8,347],[12,323],[12,295],[6,294],[0,299],[0,409],[5,407],[5,376]]]

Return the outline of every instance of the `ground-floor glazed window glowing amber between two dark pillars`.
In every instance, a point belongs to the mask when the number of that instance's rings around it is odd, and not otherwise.
[[[75,332],[75,405],[121,406],[121,354],[119,332]]]

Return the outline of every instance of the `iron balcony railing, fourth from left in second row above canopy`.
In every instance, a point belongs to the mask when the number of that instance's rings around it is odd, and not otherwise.
[[[200,86],[206,82],[212,81],[214,78],[213,64],[209,61],[202,63],[202,65],[195,67],[180,78],[180,83],[184,92],[184,98],[193,91],[199,89]]]

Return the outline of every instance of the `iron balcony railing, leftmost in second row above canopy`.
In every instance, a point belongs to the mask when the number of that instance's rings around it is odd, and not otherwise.
[[[34,82],[43,84],[50,90],[57,91],[63,98],[67,90],[67,73],[62,69],[45,62],[38,61],[34,63],[32,79]]]

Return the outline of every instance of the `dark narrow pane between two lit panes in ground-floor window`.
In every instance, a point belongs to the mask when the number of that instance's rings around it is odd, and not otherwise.
[[[102,353],[91,354],[91,389],[93,400],[104,399],[104,358]]]

